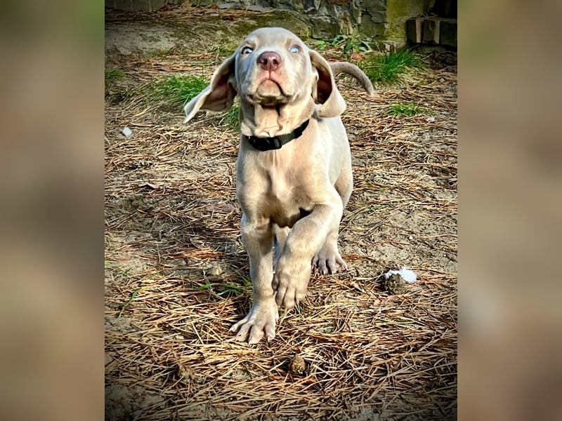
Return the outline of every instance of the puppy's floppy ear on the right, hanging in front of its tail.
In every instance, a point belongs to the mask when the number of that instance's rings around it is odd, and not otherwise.
[[[312,67],[318,71],[315,88],[315,100],[322,104],[318,109],[320,117],[336,117],[346,110],[344,97],[339,93],[329,63],[316,51],[310,50]]]

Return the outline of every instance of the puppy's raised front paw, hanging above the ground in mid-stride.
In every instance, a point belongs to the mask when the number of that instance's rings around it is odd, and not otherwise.
[[[282,256],[275,267],[273,290],[278,306],[292,309],[306,297],[306,287],[311,278],[311,264]]]

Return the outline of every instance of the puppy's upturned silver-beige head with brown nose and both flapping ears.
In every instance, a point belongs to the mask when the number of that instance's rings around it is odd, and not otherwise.
[[[242,102],[242,133],[254,132],[247,135],[259,135],[254,130],[259,120],[270,120],[271,114],[281,121],[279,127],[293,130],[310,118],[315,104],[320,117],[339,116],[346,107],[328,62],[283,28],[251,32],[216,69],[209,86],[185,105],[185,121],[200,109],[228,109],[236,95]]]

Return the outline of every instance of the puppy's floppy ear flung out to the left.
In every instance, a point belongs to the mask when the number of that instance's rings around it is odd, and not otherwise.
[[[233,105],[236,96],[234,66],[235,55],[231,55],[215,70],[209,86],[183,107],[185,123],[190,121],[200,109],[223,111]]]

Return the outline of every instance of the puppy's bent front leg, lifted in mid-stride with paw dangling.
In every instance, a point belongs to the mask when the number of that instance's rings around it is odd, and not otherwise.
[[[311,261],[328,236],[337,236],[344,206],[339,196],[315,206],[310,215],[291,229],[282,255],[275,266],[273,290],[277,305],[292,309],[306,296]]]

